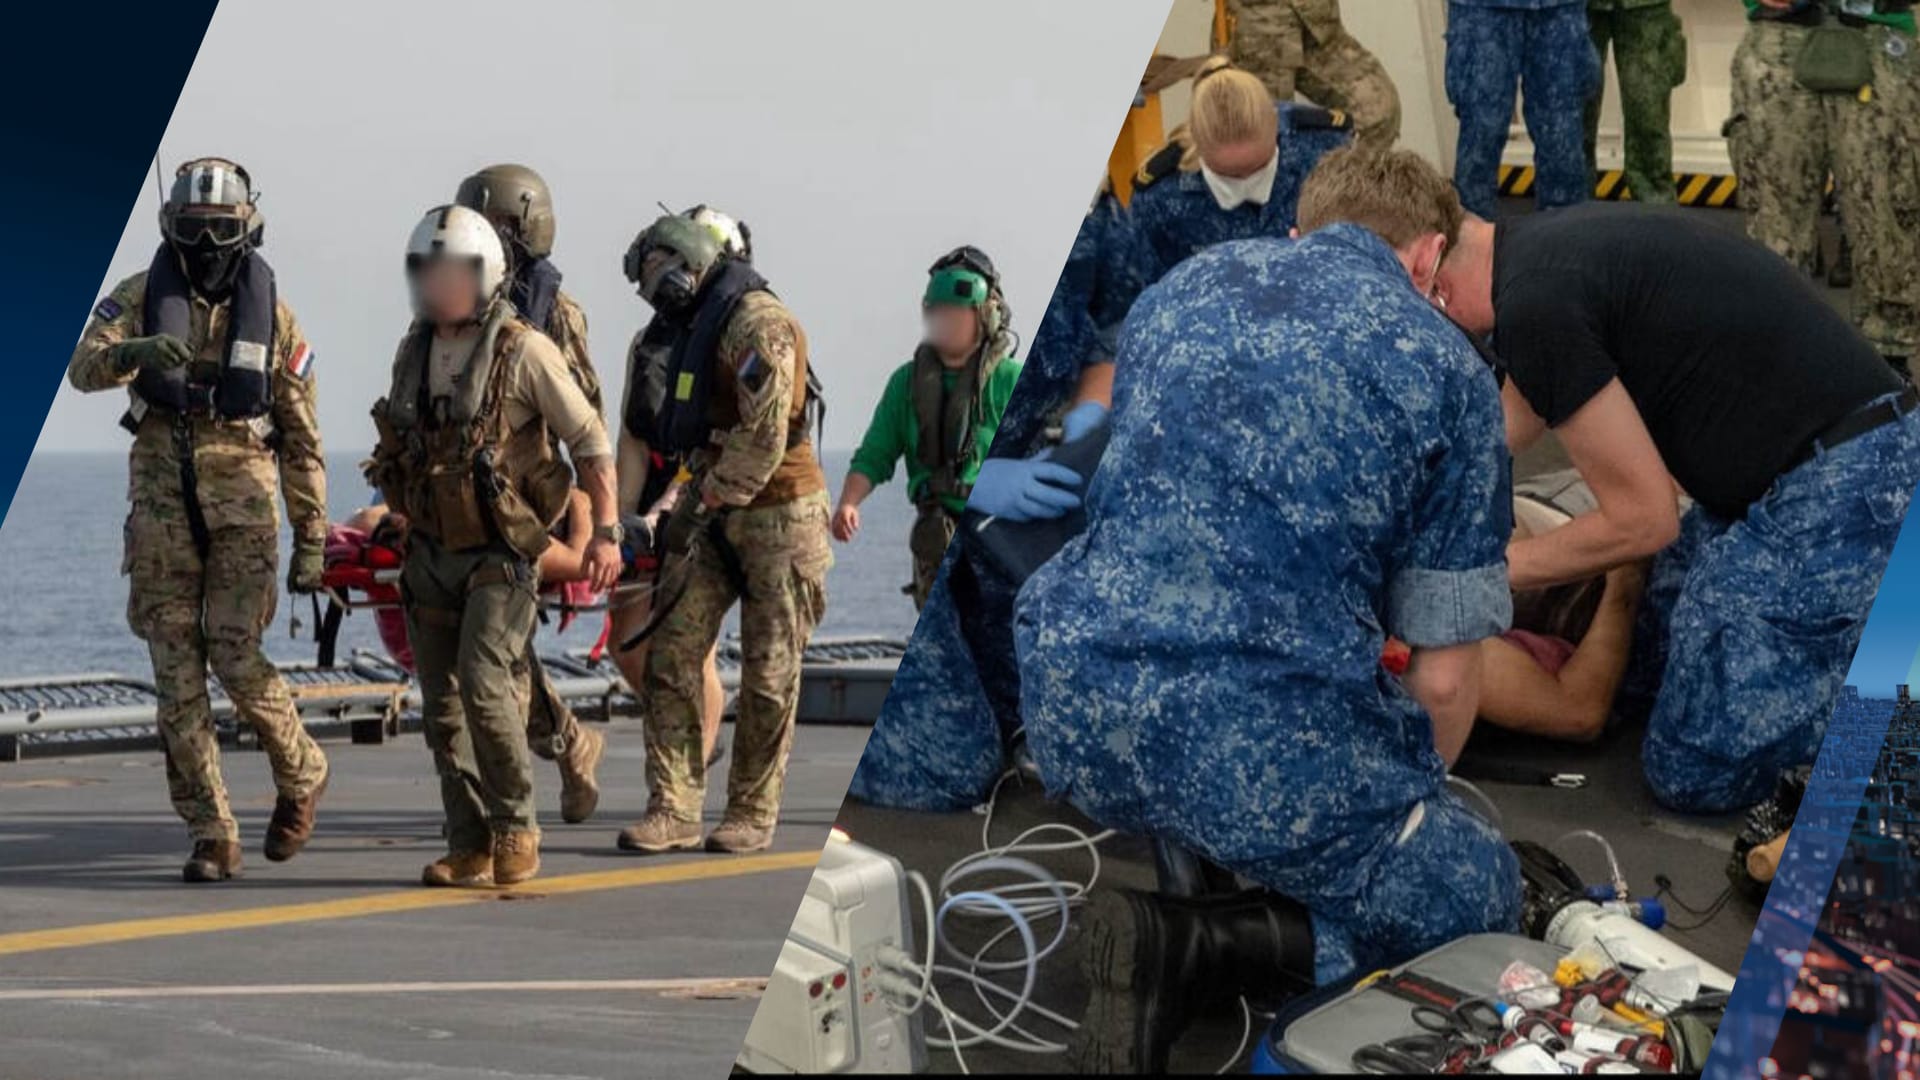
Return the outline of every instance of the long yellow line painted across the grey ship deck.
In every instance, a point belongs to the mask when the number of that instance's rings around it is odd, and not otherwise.
[[[77,949],[83,945],[109,945],[117,942],[140,942],[148,938],[173,938],[180,934],[215,934],[223,930],[253,930],[259,926],[284,926],[288,922],[319,922],[326,919],[355,919],[361,915],[392,915],[397,911],[422,911],[428,907],[451,907],[457,903],[484,903],[503,896],[568,896],[576,892],[597,892],[611,888],[659,886],[676,882],[699,882],[712,878],[735,878],[745,874],[766,874],[776,871],[801,871],[820,861],[820,851],[781,851],[776,855],[745,855],[737,859],[701,859],[687,863],[668,863],[653,867],[632,867],[624,871],[593,871],[586,874],[566,874],[559,878],[534,878],[524,886],[507,890],[459,890],[459,888],[413,888],[407,892],[376,892],[367,896],[346,896],[340,899],[319,899],[309,903],[276,903],[269,907],[240,907],[234,911],[207,911],[200,915],[163,915],[159,919],[127,919],[123,922],[88,922],[83,926],[58,926],[52,930],[23,930],[0,934],[0,957],[13,953],[38,953],[46,949]],[[795,897],[799,901],[799,897]]]

